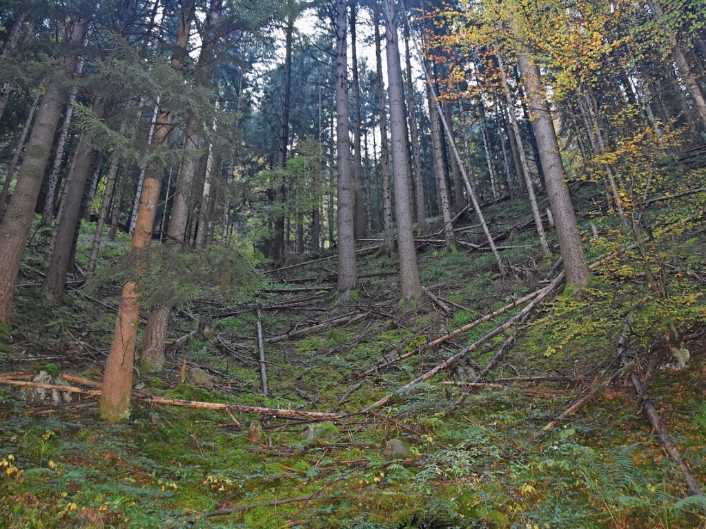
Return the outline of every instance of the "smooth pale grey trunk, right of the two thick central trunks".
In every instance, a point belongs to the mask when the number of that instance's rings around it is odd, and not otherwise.
[[[409,157],[405,131],[405,94],[402,90],[399,36],[397,35],[395,0],[383,0],[386,57],[388,63],[388,95],[390,96],[390,134],[392,136],[393,181],[395,184],[395,218],[397,219],[397,254],[400,258],[402,298],[421,300],[421,284],[417,267],[417,250],[412,232],[412,210],[407,191]]]

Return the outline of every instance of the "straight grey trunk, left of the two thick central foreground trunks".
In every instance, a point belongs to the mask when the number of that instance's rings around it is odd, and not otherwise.
[[[338,285],[344,298],[358,283],[355,259],[355,190],[348,123],[346,0],[336,0],[336,150],[338,154]]]

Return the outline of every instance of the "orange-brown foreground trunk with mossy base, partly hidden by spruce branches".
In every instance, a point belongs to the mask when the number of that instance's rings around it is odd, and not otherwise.
[[[191,20],[195,4],[193,0],[183,0],[181,4],[181,20],[172,56],[172,68],[181,71],[181,56],[189,43]],[[174,116],[172,112],[160,109],[155,126],[155,147],[163,147],[167,135],[172,130]],[[152,238],[152,224],[155,221],[157,200],[159,200],[160,183],[158,167],[147,168],[143,193],[140,197],[135,230],[133,231],[132,248],[143,250]],[[108,422],[117,422],[130,415],[132,396],[133,363],[137,342],[137,324],[140,312],[140,293],[133,281],[128,281],[123,287],[122,298],[118,308],[115,332],[110,346],[103,375],[103,389],[100,400],[100,414]]]

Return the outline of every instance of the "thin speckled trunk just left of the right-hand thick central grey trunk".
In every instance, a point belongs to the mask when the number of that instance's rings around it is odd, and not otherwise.
[[[380,169],[383,188],[383,250],[390,257],[395,252],[393,238],[393,201],[390,196],[390,160],[388,146],[388,113],[385,107],[385,83],[383,80],[382,50],[380,46],[380,21],[378,10],[373,8],[375,30],[375,60],[378,73],[378,118],[380,121]]]

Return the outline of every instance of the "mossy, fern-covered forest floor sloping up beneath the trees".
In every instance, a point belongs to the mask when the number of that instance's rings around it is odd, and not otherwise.
[[[692,198],[684,201],[685,207]],[[496,232],[531,218],[521,200],[489,207],[487,214]],[[583,221],[587,226],[588,219]],[[592,222],[609,228],[601,224],[605,217]],[[469,224],[474,219],[457,226]],[[81,232],[79,265],[91,229],[86,224]],[[468,241],[481,241],[477,228],[463,233]],[[698,231],[688,241],[690,253],[703,262],[706,234]],[[210,324],[169,351],[163,373],[136,379],[136,391],[145,394],[343,414],[335,420],[136,403],[130,420],[109,426],[98,418],[95,396],[36,407],[20,389],[0,387],[0,526],[702,526],[698,510],[705,499],[683,500],[688,496],[683,477],[664,455],[645,416],[636,413],[629,384],[611,385],[573,418],[542,439],[532,439],[585,394],[595,377],[615,369],[611,365],[623,322],[600,320],[585,309],[568,322],[553,320],[552,308],[566,309],[561,293],[542,307],[532,324],[520,327],[515,343],[505,348],[484,379],[489,385],[457,384],[471,381],[510,332],[413,391],[397,391],[520,308],[438,348],[360,376],[383,357],[399,358],[546,284],[542,281],[553,262],[539,260],[535,242],[530,226],[513,230],[500,243],[509,247],[502,250],[512,267],[507,279],[494,275],[489,252],[421,248],[422,283],[446,300],[448,314],[429,302],[400,306],[395,262],[378,254],[360,258],[361,286],[347,303],[332,292],[335,259],[272,276],[268,291],[256,300],[265,308],[270,396],[261,394],[256,312],[228,315],[239,310],[223,306],[217,296],[177,312],[172,340],[195,330],[198,322]],[[103,259],[119,255],[126,245],[124,237],[107,245]],[[591,245],[590,260],[602,252],[600,245]],[[100,380],[119,290],[105,286],[90,298],[70,291],[64,305],[47,306],[40,295],[39,265],[39,257],[31,256],[23,265],[15,330],[12,340],[0,346],[0,372],[26,376],[46,370]],[[75,280],[78,286],[80,276]],[[292,308],[271,308],[294,301]],[[348,324],[334,322],[318,332],[272,340],[358,315]],[[585,332],[558,347],[562,334],[573,332],[570,326],[577,321]],[[677,374],[654,370],[648,391],[683,458],[703,483],[706,341],[697,334],[687,343],[692,355],[688,369]],[[194,367],[209,372],[213,389],[184,381]],[[563,378],[503,380],[534,376]],[[395,394],[391,406],[359,413],[390,392]],[[204,516],[228,508],[237,511]]]

